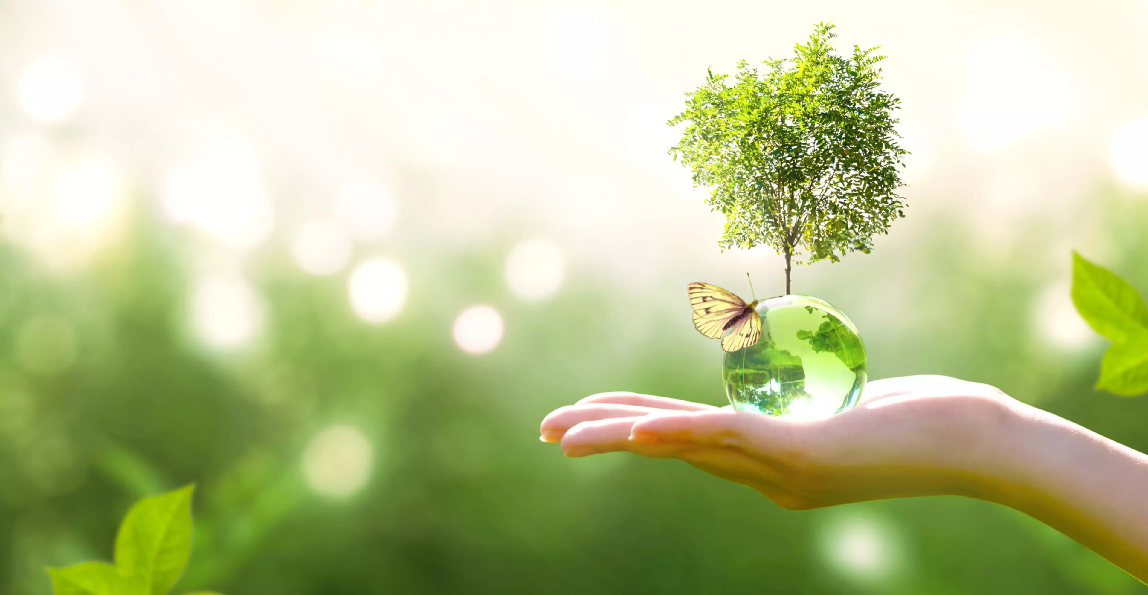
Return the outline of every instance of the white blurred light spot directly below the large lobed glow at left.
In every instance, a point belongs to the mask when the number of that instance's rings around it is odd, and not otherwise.
[[[263,329],[263,303],[242,277],[208,277],[196,284],[192,295],[192,325],[211,347],[240,347]]]

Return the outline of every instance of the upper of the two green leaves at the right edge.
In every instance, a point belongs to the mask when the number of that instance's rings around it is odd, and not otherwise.
[[[1072,253],[1072,303],[1097,333],[1120,342],[1148,333],[1148,306],[1135,288],[1108,269]]]

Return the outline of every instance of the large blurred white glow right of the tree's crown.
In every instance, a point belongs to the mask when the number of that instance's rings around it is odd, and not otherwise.
[[[1068,75],[1018,39],[978,45],[969,57],[969,91],[961,114],[965,140],[998,150],[1065,121],[1078,91]]]

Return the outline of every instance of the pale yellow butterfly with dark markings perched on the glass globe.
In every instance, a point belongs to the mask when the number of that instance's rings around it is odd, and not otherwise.
[[[708,283],[691,283],[689,291],[693,326],[711,339],[721,339],[722,349],[736,351],[761,339],[761,317],[755,309],[761,300],[745,303],[737,295]]]

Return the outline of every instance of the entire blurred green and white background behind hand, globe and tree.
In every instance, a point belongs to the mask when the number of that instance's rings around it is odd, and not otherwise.
[[[1070,249],[1148,291],[1148,3],[0,0],[0,593],[196,482],[179,588],[1139,593],[959,497],[786,512],[565,459],[553,408],[720,404],[685,284],[781,293],[665,154],[705,69],[882,45],[914,152],[871,255],[794,271],[875,378],[990,382],[1140,450]]]

